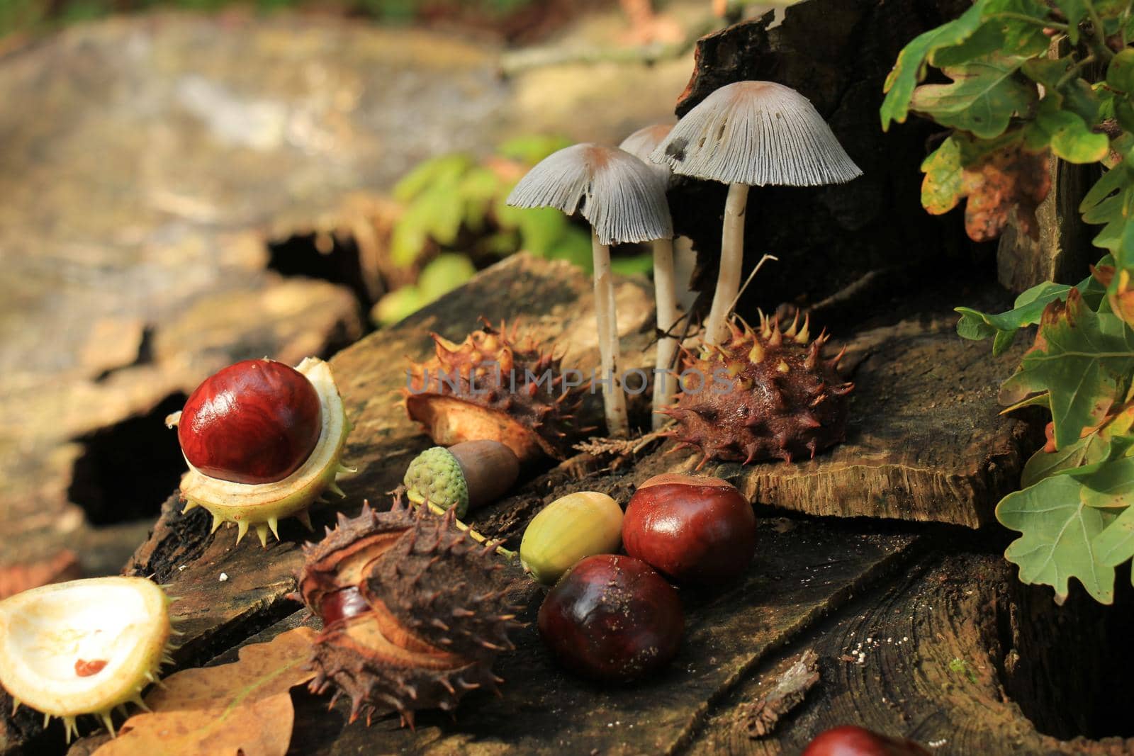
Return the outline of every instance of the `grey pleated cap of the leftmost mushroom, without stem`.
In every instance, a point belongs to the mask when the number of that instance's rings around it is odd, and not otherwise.
[[[576,144],[527,172],[508,195],[516,207],[557,207],[590,221],[600,244],[651,241],[674,235],[666,180],[617,147]]]

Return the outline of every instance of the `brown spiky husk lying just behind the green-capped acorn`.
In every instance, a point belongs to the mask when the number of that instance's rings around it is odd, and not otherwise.
[[[500,330],[482,323],[459,345],[431,334],[435,357],[411,364],[409,385],[401,390],[411,419],[442,447],[488,439],[521,461],[566,459],[573,436],[582,432],[574,414],[583,387],[565,390],[560,358],[541,352],[531,337],[519,343],[515,324],[508,333],[503,323]]]

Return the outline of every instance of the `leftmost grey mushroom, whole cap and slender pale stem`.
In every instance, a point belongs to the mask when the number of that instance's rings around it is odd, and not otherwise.
[[[626,397],[618,373],[618,324],[610,245],[652,241],[674,235],[666,182],[631,153],[599,144],[576,144],[535,164],[508,195],[516,207],[557,207],[579,212],[591,223],[594,255],[594,309],[602,358],[607,432],[626,436]]]

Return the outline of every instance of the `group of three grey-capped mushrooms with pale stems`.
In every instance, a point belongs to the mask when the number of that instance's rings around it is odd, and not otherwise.
[[[748,187],[840,184],[862,175],[811,101],[773,82],[735,82],[711,93],[675,126],[649,126],[618,147],[577,144],[536,164],[513,190],[508,204],[551,206],[579,213],[591,223],[599,350],[607,431],[628,433],[619,374],[612,244],[653,243],[659,339],[653,409],[675,391],[670,375],[678,348],[672,221],[666,190],[671,175],[728,185],[721,231],[720,269],[703,343],[728,338],[729,316],[741,289],[744,214]],[[654,416],[654,427],[663,417]]]

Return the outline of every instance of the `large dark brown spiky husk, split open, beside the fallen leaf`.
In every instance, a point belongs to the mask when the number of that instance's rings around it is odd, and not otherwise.
[[[502,564],[454,519],[399,498],[388,512],[339,515],[305,546],[296,597],[324,622],[311,690],[350,696],[352,722],[387,710],[412,727],[416,711],[451,711],[466,691],[502,682],[492,662],[518,627],[492,580]]]

